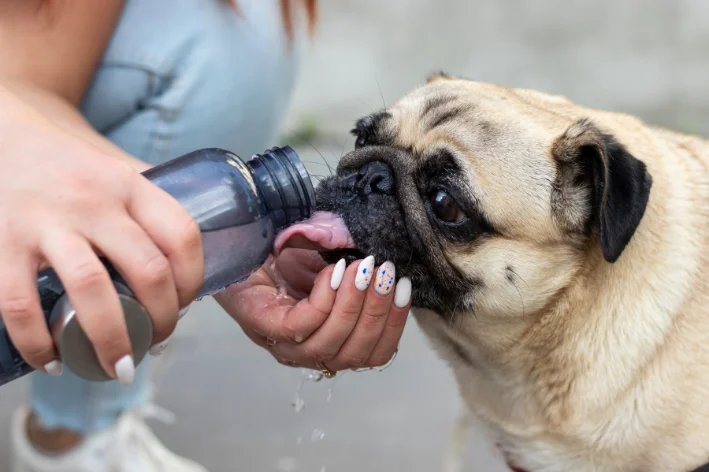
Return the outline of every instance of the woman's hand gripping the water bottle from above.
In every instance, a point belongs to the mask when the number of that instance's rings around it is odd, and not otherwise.
[[[197,224],[124,161],[58,128],[1,86],[0,168],[0,314],[13,343],[32,367],[59,371],[37,293],[37,272],[51,266],[103,368],[131,382],[121,305],[96,253],[147,308],[159,343],[202,283]]]

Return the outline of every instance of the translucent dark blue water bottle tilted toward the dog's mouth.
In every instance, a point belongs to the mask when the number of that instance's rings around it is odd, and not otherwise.
[[[246,163],[222,149],[203,149],[153,167],[143,175],[172,195],[199,224],[204,282],[198,298],[247,278],[268,258],[276,233],[310,217],[315,209],[310,176],[295,151],[287,146],[270,149]],[[123,308],[137,365],[150,348],[152,323],[110,262],[104,264]],[[110,380],[79,326],[57,274],[52,269],[42,271],[37,286],[64,365],[87,380]],[[0,385],[31,371],[0,319]]]

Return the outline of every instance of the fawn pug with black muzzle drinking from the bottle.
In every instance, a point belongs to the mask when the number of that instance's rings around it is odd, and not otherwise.
[[[709,462],[709,142],[445,74],[354,134],[312,239],[412,279],[511,470]]]

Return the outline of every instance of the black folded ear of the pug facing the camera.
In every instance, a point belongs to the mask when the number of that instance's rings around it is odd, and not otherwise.
[[[557,163],[552,206],[574,231],[598,228],[601,250],[615,262],[645,213],[652,177],[645,164],[590,120],[573,123],[552,147]]]

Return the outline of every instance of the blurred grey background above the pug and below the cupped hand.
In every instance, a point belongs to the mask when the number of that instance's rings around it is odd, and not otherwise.
[[[441,69],[706,136],[707,18],[706,0],[322,1],[276,144],[335,164],[352,149],[348,130],[359,116]],[[155,401],[177,415],[179,427],[157,424],[156,431],[214,472],[437,471],[459,413],[446,365],[413,322],[386,371],[315,383],[278,365],[205,300],[160,359]],[[26,385],[3,388],[0,424],[8,424]],[[304,408],[296,411],[299,389]],[[0,458],[7,442],[0,428]],[[480,434],[466,445],[464,470],[507,470]]]

